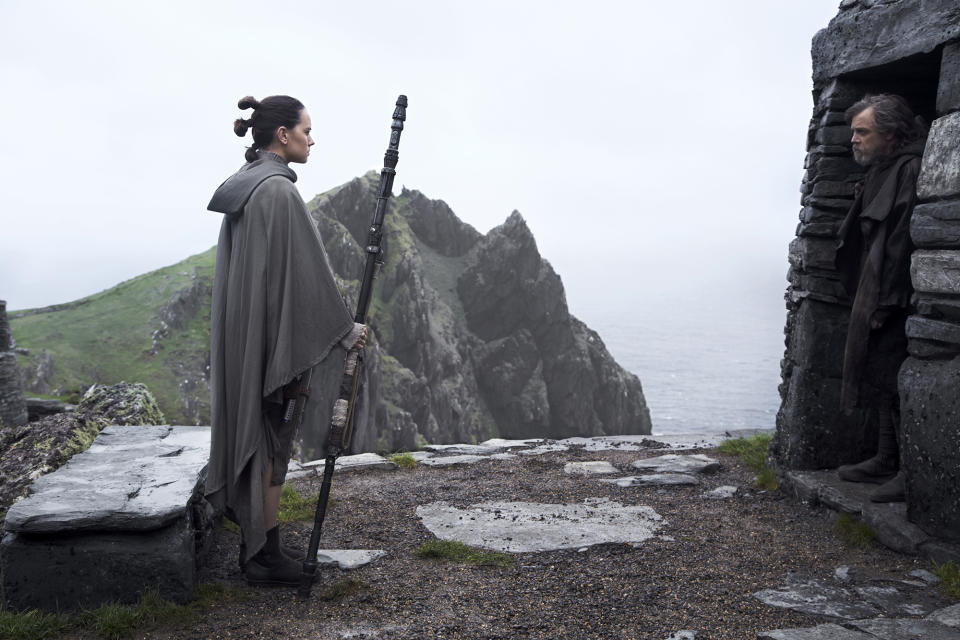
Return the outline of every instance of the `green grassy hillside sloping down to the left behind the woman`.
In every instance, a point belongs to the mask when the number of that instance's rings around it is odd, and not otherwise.
[[[143,382],[170,420],[197,423],[209,401],[185,394],[205,386],[215,255],[214,247],[75,302],[10,312],[17,346],[29,352],[19,355],[28,393]]]

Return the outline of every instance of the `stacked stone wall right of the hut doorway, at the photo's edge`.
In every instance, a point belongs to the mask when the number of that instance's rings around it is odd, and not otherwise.
[[[960,42],[943,49],[910,236],[917,312],[900,370],[907,515],[960,539]]]

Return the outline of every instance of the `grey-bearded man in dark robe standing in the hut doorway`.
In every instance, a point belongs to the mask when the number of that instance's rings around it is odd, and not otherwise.
[[[880,484],[874,502],[902,502],[897,372],[907,357],[910,215],[926,131],[906,101],[890,94],[863,98],[847,110],[846,120],[853,158],[867,173],[838,233],[836,266],[853,298],[840,405],[846,416],[859,408],[877,425],[879,437],[874,457],[840,467],[839,475]]]

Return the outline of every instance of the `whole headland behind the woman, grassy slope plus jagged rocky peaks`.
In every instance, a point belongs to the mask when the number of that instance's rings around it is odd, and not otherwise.
[[[308,204],[348,298],[363,272],[376,183],[370,173]],[[650,432],[640,381],[570,315],[519,213],[482,235],[444,202],[404,189],[391,202],[384,249],[355,451]],[[29,356],[24,378],[61,393],[113,377],[143,381],[175,422],[206,423],[213,260],[211,250],[85,304],[13,314]],[[113,313],[103,313],[108,303]],[[123,318],[129,326],[110,324]],[[72,335],[69,345],[58,332]],[[99,351],[104,340],[110,358]],[[308,434],[304,454],[319,444]]]

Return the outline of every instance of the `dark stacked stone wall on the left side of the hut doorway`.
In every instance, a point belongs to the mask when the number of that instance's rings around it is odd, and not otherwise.
[[[814,93],[800,186],[800,224],[790,243],[787,352],[773,455],[789,469],[856,462],[876,446],[865,416],[840,419],[840,376],[851,300],[834,266],[837,231],[863,170],[850,155],[844,112],[862,95],[833,80]]]

